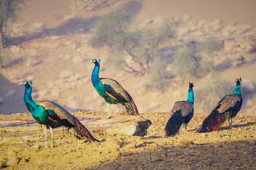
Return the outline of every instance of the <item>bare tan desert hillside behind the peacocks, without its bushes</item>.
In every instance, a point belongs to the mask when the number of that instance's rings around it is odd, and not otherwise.
[[[204,106],[201,97],[196,98],[195,112],[207,114],[220,97],[232,93],[234,80],[241,76],[244,104],[239,114],[254,114],[255,1],[71,2],[20,1],[19,10],[15,11],[17,17],[8,22],[6,49],[9,56],[0,70],[0,113],[28,112],[22,99],[24,87],[16,85],[22,80],[33,80],[32,97],[35,100],[54,101],[68,111],[107,111],[106,102],[91,82],[94,67],[91,61],[99,58],[102,60],[100,77],[117,80],[131,94],[141,113],[170,111],[175,101],[186,100],[188,81],[195,83],[195,96],[199,96],[202,90],[207,94],[207,86],[211,85],[212,79],[205,73],[204,77],[191,76],[183,81],[174,74],[172,63],[177,48],[187,45],[192,49],[205,38],[214,37],[222,47],[211,55],[214,56],[212,65],[215,70],[212,73],[218,71],[217,79],[222,78],[232,88],[221,90],[218,95],[205,95],[211,96],[209,106]],[[156,78],[152,75],[164,72],[162,69],[158,70],[159,73],[152,71],[143,76],[127,73],[108,64],[114,55],[108,46],[97,48],[90,45],[97,22],[113,10],[122,10],[132,16],[130,29],[154,29],[165,22],[172,25],[175,36],[159,45],[154,59],[157,62],[162,60],[156,65],[161,68],[161,64],[165,63],[167,65],[163,67],[170,71],[167,83],[160,83],[160,87],[164,84],[163,90],[159,89],[159,85],[152,85],[158,80],[150,79]],[[198,60],[210,56],[198,52],[194,54]],[[130,60],[129,55],[124,53],[122,56]],[[132,66],[138,67],[136,63]],[[118,113],[122,107],[113,106],[113,111]]]

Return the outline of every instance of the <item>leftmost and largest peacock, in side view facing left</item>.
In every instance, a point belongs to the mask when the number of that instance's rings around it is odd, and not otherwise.
[[[18,85],[24,85],[24,103],[35,118],[38,124],[41,124],[45,134],[45,148],[47,148],[47,127],[50,127],[51,132],[51,147],[53,147],[53,129],[64,126],[68,132],[74,134],[77,138],[88,138],[91,141],[97,141],[92,134],[84,127],[79,120],[61,108],[56,103],[51,101],[34,101],[31,97],[33,81],[29,85],[28,81],[21,81]]]

